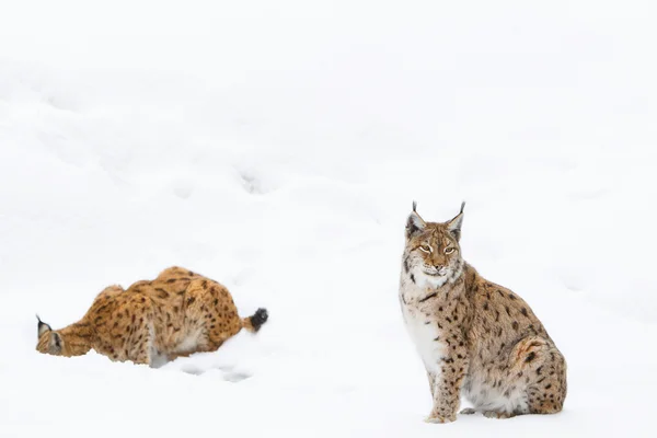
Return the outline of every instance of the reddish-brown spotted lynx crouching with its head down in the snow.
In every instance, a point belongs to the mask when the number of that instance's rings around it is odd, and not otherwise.
[[[38,321],[36,349],[56,356],[80,356],[91,348],[112,360],[148,364],[160,355],[173,360],[215,351],[242,327],[257,332],[267,311],[240,319],[226,287],[180,267],[127,290],[110,286],[77,323],[53,331]]]

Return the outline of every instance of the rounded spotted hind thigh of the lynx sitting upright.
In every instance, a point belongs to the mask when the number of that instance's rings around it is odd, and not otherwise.
[[[561,412],[567,383],[566,361],[558,349],[545,338],[531,336],[516,345],[511,358],[516,360],[514,369],[522,372],[520,379],[527,384],[528,413]]]

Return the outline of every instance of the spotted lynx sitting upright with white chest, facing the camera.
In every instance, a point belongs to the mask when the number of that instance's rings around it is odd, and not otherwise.
[[[529,306],[461,256],[463,207],[445,223],[416,211],[406,224],[400,302],[424,361],[430,423],[457,419],[461,391],[487,417],[553,414],[566,396],[566,362]]]

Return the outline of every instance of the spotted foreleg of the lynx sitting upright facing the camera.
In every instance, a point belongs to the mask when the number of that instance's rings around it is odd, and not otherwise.
[[[434,408],[425,419],[427,423],[450,423],[457,419],[457,412],[461,405],[461,384],[468,370],[465,351],[457,353],[443,358],[438,364],[438,371],[434,380]]]

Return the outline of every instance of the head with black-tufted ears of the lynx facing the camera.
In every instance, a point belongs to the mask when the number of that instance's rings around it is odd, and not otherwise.
[[[425,222],[417,214],[417,203],[413,203],[406,221],[403,266],[413,281],[440,287],[460,277],[464,264],[459,245],[464,207],[462,203],[461,211],[447,222]]]

